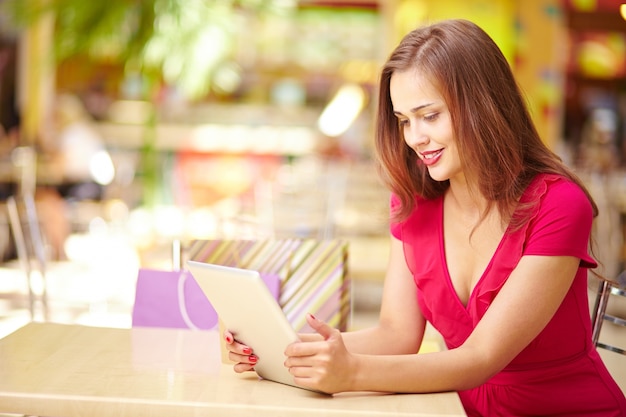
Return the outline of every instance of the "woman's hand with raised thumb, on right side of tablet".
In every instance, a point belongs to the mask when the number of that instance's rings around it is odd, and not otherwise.
[[[295,383],[328,394],[352,390],[356,358],[346,349],[341,332],[311,314],[306,319],[323,340],[287,346],[285,366]]]

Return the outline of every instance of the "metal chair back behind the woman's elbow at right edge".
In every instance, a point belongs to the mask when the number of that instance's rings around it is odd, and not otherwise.
[[[607,313],[609,301],[622,301],[622,299],[619,298],[612,300],[612,297],[624,297],[623,300],[626,301],[626,270],[622,271],[618,276],[617,282],[608,280],[602,280],[600,282],[592,313],[592,340],[596,347],[626,355],[626,346],[618,347],[612,343],[601,342],[599,340],[603,324],[606,321],[617,326],[626,327],[626,319]]]

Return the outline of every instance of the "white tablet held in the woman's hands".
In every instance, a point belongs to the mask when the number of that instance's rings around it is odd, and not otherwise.
[[[295,385],[284,365],[285,348],[298,336],[257,271],[187,261],[187,268],[224,326],[250,346],[264,379]]]

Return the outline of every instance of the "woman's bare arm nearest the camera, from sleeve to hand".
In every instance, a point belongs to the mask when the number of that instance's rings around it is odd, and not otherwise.
[[[286,366],[296,383],[329,393],[439,392],[476,387],[504,368],[546,326],[569,290],[579,263],[578,258],[567,256],[522,257],[481,322],[456,349],[419,355],[355,354],[346,347],[354,349],[356,339],[344,344],[338,331],[310,318],[324,341],[290,345]],[[403,311],[405,305],[395,307]],[[406,328],[392,328],[402,340],[408,333]],[[380,334],[390,337],[390,333]],[[375,350],[393,342],[363,343]]]

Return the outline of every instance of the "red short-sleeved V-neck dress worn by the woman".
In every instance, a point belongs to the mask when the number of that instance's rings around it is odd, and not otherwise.
[[[545,329],[501,372],[459,395],[469,416],[626,416],[624,393],[591,341],[587,268],[597,266],[587,251],[591,205],[579,187],[554,175],[535,178],[521,201],[530,200],[539,206],[521,230],[505,233],[467,305],[447,270],[443,198],[419,200],[406,221],[391,225],[403,241],[421,312],[454,349],[472,333],[522,256],[580,258],[572,287]],[[392,197],[392,208],[396,204]]]

